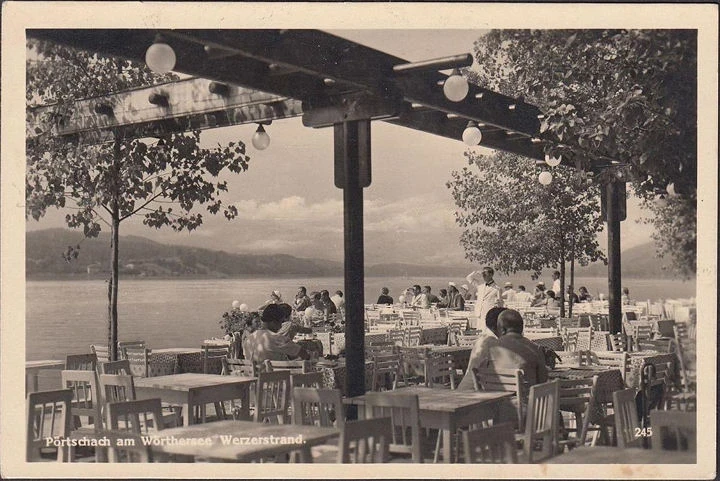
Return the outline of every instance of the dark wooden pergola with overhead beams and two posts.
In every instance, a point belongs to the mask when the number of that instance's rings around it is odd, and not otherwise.
[[[460,140],[474,121],[483,146],[545,158],[537,107],[475,85],[460,101],[443,94],[448,76],[439,70],[469,66],[470,54],[411,63],[318,30],[67,29],[27,35],[136,62],[162,41],[176,54],[173,70],[197,77],[80,100],[72,115],[29,135],[50,129],[97,141],[99,132],[148,137],[296,116],[308,127],[333,128],[335,185],[344,199],[350,396],[363,394],[365,386],[363,188],[371,182],[371,122]],[[40,119],[42,109],[28,115]],[[611,182],[603,190],[613,332],[621,328],[620,186]]]

